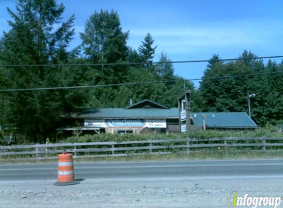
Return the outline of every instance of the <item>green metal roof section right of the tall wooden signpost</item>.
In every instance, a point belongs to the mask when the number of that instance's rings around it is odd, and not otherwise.
[[[192,113],[194,125],[202,126],[202,115],[206,115],[205,124],[208,128],[255,128],[257,125],[244,112],[223,113]]]

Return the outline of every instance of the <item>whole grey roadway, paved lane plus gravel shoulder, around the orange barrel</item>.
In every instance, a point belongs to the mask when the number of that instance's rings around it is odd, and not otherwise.
[[[53,185],[56,169],[0,165],[0,208],[227,208],[232,191],[283,196],[283,160],[76,163],[72,186]]]

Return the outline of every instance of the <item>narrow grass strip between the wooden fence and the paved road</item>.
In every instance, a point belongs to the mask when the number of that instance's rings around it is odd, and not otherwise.
[[[244,160],[244,159],[282,159],[283,150],[239,150],[236,148],[217,150],[197,150],[184,153],[170,153],[165,155],[130,155],[119,157],[92,157],[74,156],[76,162],[145,162],[145,161],[188,161],[188,160]],[[57,158],[28,158],[28,159],[0,159],[0,164],[23,164],[23,163],[57,163]]]

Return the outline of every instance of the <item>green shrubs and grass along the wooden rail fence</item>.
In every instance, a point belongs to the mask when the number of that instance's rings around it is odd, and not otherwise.
[[[187,140],[190,138],[190,146],[187,146]],[[222,139],[229,138],[229,139]],[[236,139],[233,139],[236,138]],[[238,138],[238,139],[237,139]],[[240,140],[239,138],[243,138]],[[274,138],[274,139],[264,139]],[[70,152],[73,151],[76,145],[75,156],[78,156],[77,161],[134,161],[134,160],[202,160],[202,159],[249,159],[249,158],[282,158],[283,146],[273,145],[280,144],[283,140],[283,132],[279,127],[257,128],[254,131],[192,131],[188,134],[100,134],[100,135],[84,135],[79,134],[67,139],[59,140],[57,143],[68,143],[65,147],[49,146],[50,153],[45,152],[47,148],[41,147],[43,151],[38,154],[25,155],[3,155],[0,156],[0,161],[6,162],[24,162],[25,160],[33,160],[37,162],[49,161],[55,162],[57,154],[64,149]],[[168,142],[166,141],[168,139]],[[169,140],[181,139],[181,140]],[[184,140],[182,140],[184,139]],[[149,140],[162,140],[160,142],[150,142]],[[164,141],[165,140],[165,141]],[[87,142],[107,142],[115,141],[112,144],[72,144],[72,143],[87,143]],[[146,141],[146,142],[127,142],[123,141]],[[267,145],[261,145],[262,142]],[[150,143],[150,144],[149,144]],[[228,146],[227,146],[227,145]],[[249,144],[255,144],[253,146]],[[152,149],[146,148],[152,145]],[[178,146],[179,145],[179,146]],[[35,144],[21,147],[22,149],[7,149],[2,148],[2,152],[20,152],[20,151],[35,151]],[[154,148],[157,146],[158,148]],[[159,147],[162,146],[162,147]],[[237,147],[236,147],[237,146]],[[88,151],[88,148],[101,151]],[[119,150],[120,148],[120,150]],[[53,150],[56,153],[52,152]],[[58,151],[59,150],[59,151]],[[115,152],[115,153],[114,153]],[[24,159],[23,159],[24,158]]]

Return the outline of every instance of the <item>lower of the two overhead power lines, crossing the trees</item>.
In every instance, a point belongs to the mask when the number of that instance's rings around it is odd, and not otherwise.
[[[86,88],[98,88],[98,87],[115,87],[115,86],[129,86],[129,85],[142,85],[142,84],[169,83],[169,82],[179,82],[179,81],[180,82],[181,81],[184,82],[184,81],[200,81],[200,80],[207,80],[207,79],[237,78],[237,77],[243,77],[243,76],[258,76],[258,75],[277,74],[277,73],[283,73],[283,71],[250,73],[250,74],[228,75],[228,76],[214,76],[214,77],[196,78],[196,79],[175,79],[175,80],[150,81],[150,82],[130,82],[130,83],[120,83],[120,84],[83,85],[83,86],[69,86],[69,87],[22,88],[22,89],[2,89],[2,90],[0,90],[0,92],[86,89]]]

